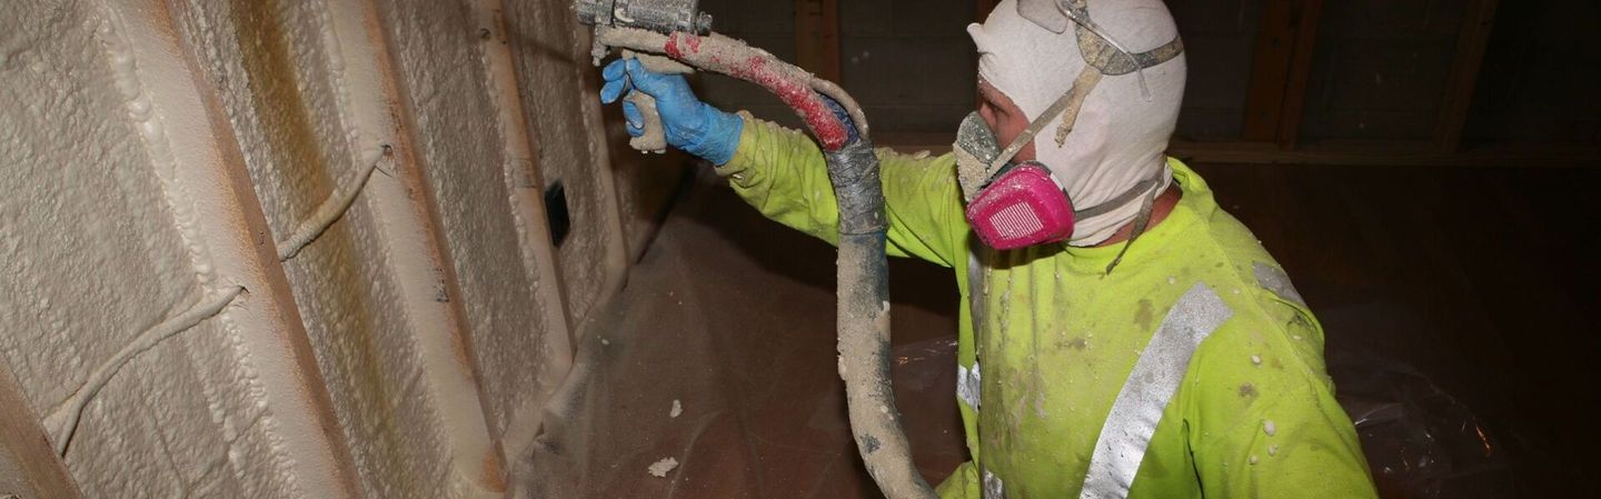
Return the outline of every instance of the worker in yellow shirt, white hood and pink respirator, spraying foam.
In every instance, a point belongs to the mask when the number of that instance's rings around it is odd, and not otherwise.
[[[964,297],[972,461],[940,496],[1374,497],[1322,326],[1164,155],[1186,70],[1164,3],[1004,0],[969,34],[980,104],[953,154],[879,150],[889,253],[953,269]],[[810,138],[636,61],[604,78],[605,102],[653,96],[668,142],[765,216],[837,240]]]

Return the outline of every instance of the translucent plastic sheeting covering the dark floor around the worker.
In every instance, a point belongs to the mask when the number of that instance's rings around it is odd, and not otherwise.
[[[586,328],[580,382],[517,497],[877,497],[834,373],[831,275],[833,248],[698,184],[620,305]],[[954,286],[905,261],[890,275],[897,403],[937,483],[967,459]],[[1410,366],[1340,353],[1330,376],[1383,497],[1513,496],[1511,456],[1471,408]]]

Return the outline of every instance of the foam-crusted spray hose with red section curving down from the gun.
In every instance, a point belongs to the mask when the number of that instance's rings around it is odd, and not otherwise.
[[[868,141],[868,120],[837,85],[773,54],[719,34],[658,34],[597,27],[596,43],[666,54],[679,62],[760,85],[800,115],[823,146],[828,178],[839,202],[839,376],[845,379],[850,429],[868,473],[890,499],[935,499],[917,473],[890,389],[889,222],[879,157]],[[853,123],[836,115],[839,102]],[[855,125],[857,134],[850,133]]]

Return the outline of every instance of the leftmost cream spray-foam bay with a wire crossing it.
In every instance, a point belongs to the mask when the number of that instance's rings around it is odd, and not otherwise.
[[[205,288],[170,205],[178,200],[163,194],[160,170],[171,165],[154,160],[142,141],[139,126],[154,125],[130,117],[122,86],[136,77],[114,67],[120,54],[107,53],[102,38],[117,35],[107,13],[43,2],[8,2],[0,11],[35,19],[0,35],[0,86],[14,99],[0,106],[0,355],[46,414],[96,365],[200,301]],[[248,366],[232,365],[242,360],[229,352],[239,331],[213,321],[191,333],[131,361],[83,414],[67,465],[85,494],[291,493],[277,473],[247,485],[223,472],[277,469],[282,456],[264,445],[258,414],[266,413],[253,409]],[[213,403],[232,411],[215,414]],[[207,472],[218,464],[224,469]]]

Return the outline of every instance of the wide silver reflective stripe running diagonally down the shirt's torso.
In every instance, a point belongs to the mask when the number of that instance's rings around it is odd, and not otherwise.
[[[1129,497],[1134,475],[1140,472],[1140,461],[1145,459],[1167,401],[1185,379],[1190,357],[1231,315],[1234,310],[1204,283],[1196,283],[1178,297],[1111,405],[1100,438],[1095,440],[1081,499]]]

